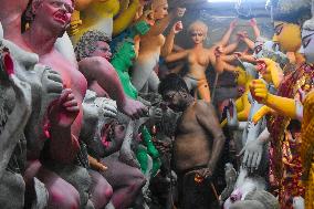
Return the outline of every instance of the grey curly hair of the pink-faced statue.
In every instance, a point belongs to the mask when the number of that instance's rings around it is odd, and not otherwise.
[[[77,62],[88,58],[96,50],[97,41],[108,42],[111,38],[106,33],[97,30],[87,31],[81,36],[74,49]]]

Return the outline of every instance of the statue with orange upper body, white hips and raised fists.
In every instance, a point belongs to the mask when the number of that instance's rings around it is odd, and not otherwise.
[[[182,30],[181,22],[176,22],[169,34],[165,39],[163,33],[175,18],[181,18],[185,14],[184,8],[177,8],[168,13],[167,0],[151,1],[153,17],[150,30],[145,35],[140,35],[139,52],[134,64],[132,83],[138,92],[157,92],[159,79],[154,71],[159,62],[159,56],[166,58],[174,48],[175,35]],[[151,18],[150,18],[151,19]]]

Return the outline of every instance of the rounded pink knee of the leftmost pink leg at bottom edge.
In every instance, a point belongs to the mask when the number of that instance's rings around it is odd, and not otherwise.
[[[50,205],[52,208],[62,209],[78,209],[80,208],[80,195],[74,188],[64,189],[52,189],[49,194]]]

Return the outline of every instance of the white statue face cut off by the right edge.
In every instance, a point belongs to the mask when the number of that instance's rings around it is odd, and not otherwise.
[[[302,46],[300,50],[306,62],[314,63],[314,30],[302,30]]]

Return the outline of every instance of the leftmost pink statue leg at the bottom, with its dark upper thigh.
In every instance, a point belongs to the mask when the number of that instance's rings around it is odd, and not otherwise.
[[[44,182],[49,191],[49,207],[50,209],[78,209],[80,195],[77,190],[60,178],[55,173],[45,168],[41,168],[39,178]]]

